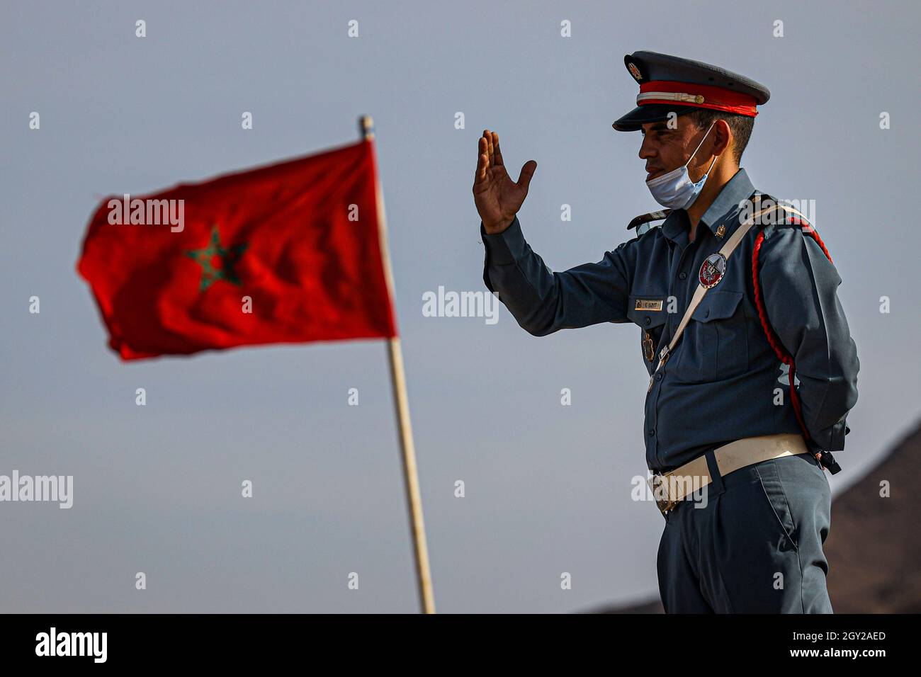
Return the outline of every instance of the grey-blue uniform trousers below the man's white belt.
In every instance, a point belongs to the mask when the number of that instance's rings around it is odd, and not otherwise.
[[[785,456],[720,477],[713,451],[706,457],[706,507],[682,500],[666,513],[657,559],[665,612],[834,613],[822,553],[832,492],[818,461]]]

